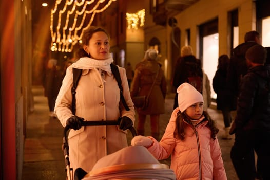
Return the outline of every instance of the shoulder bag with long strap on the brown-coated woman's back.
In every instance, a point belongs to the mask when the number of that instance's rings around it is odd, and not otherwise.
[[[132,98],[134,107],[139,108],[141,110],[144,110],[148,106],[148,98],[150,96],[150,93],[152,91],[152,88],[153,88],[154,84],[156,83],[156,80],[158,78],[158,75],[159,75],[159,70],[158,70],[158,73],[156,75],[156,78],[153,81],[152,86],[151,86],[151,88],[150,88],[147,96],[145,96],[145,95],[143,95],[143,96],[134,96]]]

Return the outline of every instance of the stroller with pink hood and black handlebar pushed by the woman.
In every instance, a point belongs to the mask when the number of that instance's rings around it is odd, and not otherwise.
[[[121,118],[111,121],[83,121],[84,126],[88,125],[119,125]],[[132,136],[137,133],[133,127],[130,132]],[[69,162],[67,134],[69,127],[64,129],[63,146],[67,179],[71,180],[71,168]],[[127,179],[176,179],[174,172],[168,165],[161,164],[143,146],[129,146],[117,152],[109,154],[94,165],[87,173],[82,168],[77,168],[74,172],[74,180],[127,180]]]

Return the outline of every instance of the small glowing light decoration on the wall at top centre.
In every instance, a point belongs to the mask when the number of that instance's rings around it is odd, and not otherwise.
[[[145,9],[142,9],[136,13],[126,13],[127,28],[138,29],[138,25],[141,27],[144,25]],[[140,24],[139,24],[140,22]]]

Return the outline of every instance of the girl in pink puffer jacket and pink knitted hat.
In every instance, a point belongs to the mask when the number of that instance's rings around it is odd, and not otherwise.
[[[227,179],[221,150],[216,137],[218,129],[203,111],[203,97],[189,83],[178,89],[178,106],[160,142],[151,136],[136,136],[132,146],[145,146],[157,159],[171,155],[171,169],[177,179]],[[180,111],[179,111],[180,110]]]

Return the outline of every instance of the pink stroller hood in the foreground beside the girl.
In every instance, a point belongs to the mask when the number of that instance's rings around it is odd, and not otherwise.
[[[123,178],[175,180],[176,175],[145,147],[129,146],[101,158],[83,180]]]

